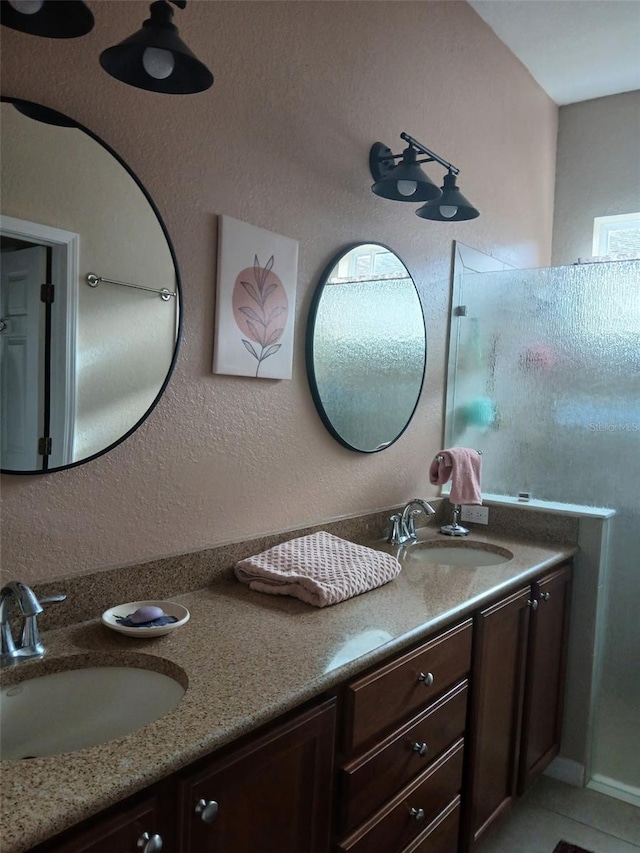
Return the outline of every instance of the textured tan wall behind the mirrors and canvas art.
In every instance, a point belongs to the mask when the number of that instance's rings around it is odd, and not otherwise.
[[[184,339],[165,396],[128,441],[66,472],[3,477],[5,575],[65,576],[433,496],[452,240],[515,265],[549,262],[556,106],[464,2],[190,2],[176,21],[216,81],[178,97],[98,65],[147,5],[89,5],[96,27],[82,39],[5,28],[2,91],[76,118],[139,175],[175,243]],[[370,192],[370,145],[400,150],[403,130],[461,168],[480,219],[430,223]],[[211,373],[222,213],[300,241],[291,381]],[[404,260],[429,340],[416,416],[372,455],[326,432],[304,366],[317,278],[359,240]]]

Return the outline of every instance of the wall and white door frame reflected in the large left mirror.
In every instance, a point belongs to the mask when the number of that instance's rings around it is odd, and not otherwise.
[[[57,471],[115,447],[153,410],[177,353],[179,275],[151,198],[115,152],[59,113],[0,100],[0,234],[46,246],[55,286],[40,307],[51,315],[51,453],[18,465],[0,442],[0,469]]]

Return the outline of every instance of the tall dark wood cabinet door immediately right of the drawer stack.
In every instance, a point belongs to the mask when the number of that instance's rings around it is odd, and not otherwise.
[[[463,850],[470,850],[516,794],[531,589],[476,615]]]

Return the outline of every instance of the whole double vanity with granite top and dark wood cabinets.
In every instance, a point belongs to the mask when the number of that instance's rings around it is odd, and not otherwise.
[[[88,667],[185,692],[115,740],[3,762],[3,853],[477,848],[559,747],[576,548],[423,528],[398,550],[394,581],[326,609],[227,569],[172,596],[191,619],[166,636],[98,612],[45,631],[3,693]],[[118,700],[150,689],[134,675]]]

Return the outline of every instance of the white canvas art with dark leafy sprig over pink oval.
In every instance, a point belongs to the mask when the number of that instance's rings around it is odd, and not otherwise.
[[[220,216],[214,373],[291,379],[298,242]]]

